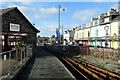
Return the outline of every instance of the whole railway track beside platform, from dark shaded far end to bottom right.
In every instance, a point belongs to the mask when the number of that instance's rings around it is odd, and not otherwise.
[[[69,57],[60,51],[54,51],[52,49],[47,50],[55,55],[77,80],[120,80],[120,75],[117,73],[96,67],[86,63],[84,60]]]

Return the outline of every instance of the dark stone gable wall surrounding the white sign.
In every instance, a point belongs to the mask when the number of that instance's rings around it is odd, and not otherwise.
[[[19,24],[20,31],[13,32],[10,31],[10,23]],[[2,32],[5,33],[26,33],[26,43],[36,45],[36,32],[33,29],[32,25],[25,19],[25,17],[21,14],[21,12],[15,8],[9,11],[6,14],[2,15]]]

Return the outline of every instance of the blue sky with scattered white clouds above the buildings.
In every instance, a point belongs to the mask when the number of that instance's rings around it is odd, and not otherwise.
[[[98,2],[97,2],[98,1]],[[18,7],[35,27],[40,30],[37,36],[51,37],[58,28],[58,5],[61,6],[60,24],[63,30],[71,30],[79,25],[89,23],[91,18],[106,13],[110,8],[118,8],[118,2],[0,2],[0,9]],[[65,11],[62,9],[65,8]],[[62,31],[62,30],[61,30]]]

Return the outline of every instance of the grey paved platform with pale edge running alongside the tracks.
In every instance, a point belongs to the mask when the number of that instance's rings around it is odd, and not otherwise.
[[[33,59],[19,78],[38,80],[75,80],[69,70],[51,53],[37,47]]]

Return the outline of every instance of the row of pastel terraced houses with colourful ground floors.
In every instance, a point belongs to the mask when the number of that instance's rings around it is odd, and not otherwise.
[[[119,48],[119,12],[110,9],[91,22],[78,26],[75,31],[75,40],[87,46]]]

